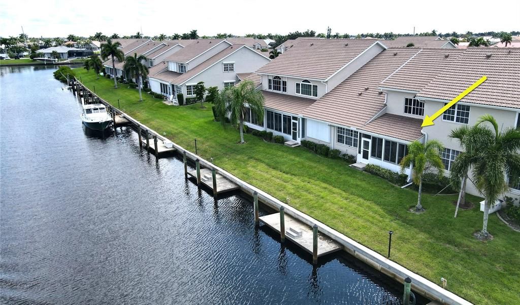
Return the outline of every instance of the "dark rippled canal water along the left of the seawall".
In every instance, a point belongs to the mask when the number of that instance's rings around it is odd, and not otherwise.
[[[0,68],[1,303],[400,303],[347,254],[314,267],[255,228],[251,198],[215,202],[131,129],[89,132],[53,71]]]

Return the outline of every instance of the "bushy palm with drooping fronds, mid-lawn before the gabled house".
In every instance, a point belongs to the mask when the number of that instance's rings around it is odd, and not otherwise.
[[[240,143],[244,142],[244,114],[251,109],[258,121],[264,119],[264,95],[255,90],[251,80],[241,81],[237,86],[220,91],[215,99],[215,112],[224,124],[226,117],[233,125],[240,126]]]

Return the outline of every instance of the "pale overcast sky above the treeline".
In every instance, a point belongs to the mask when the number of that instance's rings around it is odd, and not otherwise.
[[[518,31],[520,1],[27,1],[0,9],[0,36]]]

